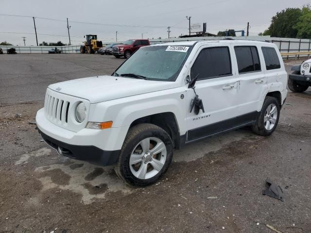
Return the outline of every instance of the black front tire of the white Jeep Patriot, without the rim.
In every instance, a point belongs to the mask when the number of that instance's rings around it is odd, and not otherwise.
[[[160,139],[166,147],[166,160],[161,170],[149,179],[138,179],[134,176],[130,168],[130,156],[139,142],[148,137]],[[162,155],[163,156],[163,155]],[[153,124],[139,124],[129,129],[120,156],[114,169],[117,175],[128,185],[134,187],[144,187],[155,183],[159,177],[166,172],[173,159],[173,142],[170,135],[162,128]]]

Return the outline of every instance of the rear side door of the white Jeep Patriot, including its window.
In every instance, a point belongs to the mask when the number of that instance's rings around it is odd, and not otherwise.
[[[261,108],[262,96],[267,90],[267,77],[260,62],[260,48],[250,45],[234,46],[233,49],[238,77],[238,111],[240,115],[255,120]]]

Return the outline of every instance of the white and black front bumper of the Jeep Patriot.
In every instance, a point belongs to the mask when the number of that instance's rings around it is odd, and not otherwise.
[[[126,133],[126,127],[106,130],[82,129],[73,132],[53,124],[40,109],[35,117],[38,131],[43,140],[62,154],[70,158],[111,165],[117,162],[123,144],[120,135]]]

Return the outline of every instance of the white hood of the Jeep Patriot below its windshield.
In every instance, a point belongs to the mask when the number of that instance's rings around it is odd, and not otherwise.
[[[49,85],[53,91],[98,103],[177,87],[176,82],[96,76]]]

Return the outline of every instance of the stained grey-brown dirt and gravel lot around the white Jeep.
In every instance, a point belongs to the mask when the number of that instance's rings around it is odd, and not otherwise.
[[[290,126],[265,138],[242,129],[176,150],[168,172],[147,188],[40,142],[31,123],[50,83],[111,74],[123,61],[0,57],[0,233],[274,233],[266,224],[311,232],[311,88],[289,92],[280,122]],[[261,194],[267,177],[284,202]]]

